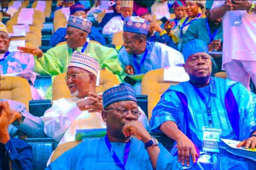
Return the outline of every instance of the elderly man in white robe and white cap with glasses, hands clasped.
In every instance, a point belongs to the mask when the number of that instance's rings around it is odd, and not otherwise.
[[[86,54],[78,51],[72,54],[65,79],[73,97],[53,101],[41,117],[45,133],[56,143],[75,141],[78,129],[106,128],[101,116],[102,95],[96,92],[99,67],[99,62]],[[148,125],[144,113],[141,118]]]

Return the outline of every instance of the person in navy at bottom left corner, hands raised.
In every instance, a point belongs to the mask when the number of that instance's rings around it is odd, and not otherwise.
[[[31,146],[8,132],[13,116],[8,103],[0,102],[0,170],[32,170]]]

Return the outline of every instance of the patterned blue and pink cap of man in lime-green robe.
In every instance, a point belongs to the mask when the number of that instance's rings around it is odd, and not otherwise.
[[[82,31],[85,31],[89,34],[92,23],[87,19],[71,15],[67,22],[67,27],[68,26],[81,29]]]

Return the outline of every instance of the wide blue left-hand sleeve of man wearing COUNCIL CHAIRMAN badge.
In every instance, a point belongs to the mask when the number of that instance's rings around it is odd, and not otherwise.
[[[166,121],[173,121],[178,128],[183,131],[183,108],[180,99],[175,91],[168,90],[162,96],[156,107],[152,111],[152,117],[149,121],[151,131],[159,131],[160,125]]]

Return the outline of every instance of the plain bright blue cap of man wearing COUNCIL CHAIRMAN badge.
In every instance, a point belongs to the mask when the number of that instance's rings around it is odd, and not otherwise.
[[[208,46],[203,40],[195,39],[195,40],[187,42],[184,45],[183,51],[182,51],[184,61],[186,62],[186,60],[189,58],[189,56],[191,56],[195,53],[200,53],[200,52],[209,54]]]

